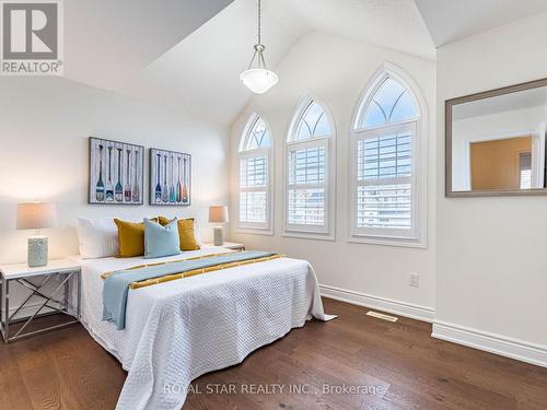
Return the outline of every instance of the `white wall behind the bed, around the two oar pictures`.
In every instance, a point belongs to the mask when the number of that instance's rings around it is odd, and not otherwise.
[[[89,206],[89,141],[95,136],[193,155],[193,204]],[[50,257],[78,254],[75,218],[196,216],[206,239],[210,203],[228,203],[229,130],[59,78],[0,78],[0,261],[26,260],[16,203],[56,202],[60,227],[46,231]],[[144,203],[148,202],[148,150]]]

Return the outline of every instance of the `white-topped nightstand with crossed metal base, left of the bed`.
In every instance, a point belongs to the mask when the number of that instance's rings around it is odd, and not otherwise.
[[[81,295],[81,267],[69,259],[50,260],[45,267],[28,268],[26,263],[0,266],[1,274],[1,304],[0,304],[0,331],[4,343],[42,333],[48,330],[66,327],[79,321]],[[14,283],[31,291],[20,306],[10,308],[10,291]],[[75,291],[75,316],[69,312],[69,292]],[[39,303],[36,304],[35,300]],[[33,302],[31,303],[31,300]],[[26,316],[24,315],[24,313]],[[33,312],[34,311],[34,312]],[[18,317],[23,316],[23,317]],[[42,327],[30,330],[34,319],[54,314],[65,314],[71,317],[67,323]],[[11,325],[15,326],[14,335],[10,333]],[[25,331],[25,329],[27,331]]]

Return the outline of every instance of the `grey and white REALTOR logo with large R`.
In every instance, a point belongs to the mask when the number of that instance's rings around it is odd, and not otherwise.
[[[0,1],[1,74],[62,75],[60,0]]]

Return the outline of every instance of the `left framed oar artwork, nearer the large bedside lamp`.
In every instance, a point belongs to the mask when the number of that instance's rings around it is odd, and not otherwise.
[[[141,206],[144,147],[90,137],[89,203]]]

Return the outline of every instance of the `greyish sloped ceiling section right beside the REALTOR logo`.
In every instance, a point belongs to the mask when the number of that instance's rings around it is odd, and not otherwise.
[[[65,77],[115,90],[232,1],[65,1]]]

